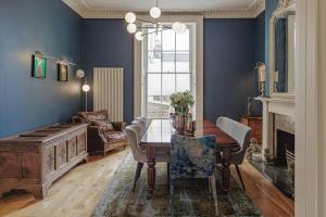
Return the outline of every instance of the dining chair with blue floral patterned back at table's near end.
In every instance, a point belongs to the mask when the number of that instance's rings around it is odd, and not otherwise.
[[[170,151],[170,207],[174,215],[174,180],[178,178],[209,178],[215,215],[218,216],[216,193],[215,137],[191,138],[173,135]]]

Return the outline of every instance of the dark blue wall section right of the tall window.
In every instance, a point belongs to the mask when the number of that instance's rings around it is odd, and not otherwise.
[[[204,118],[239,119],[254,95],[254,20],[204,20]]]

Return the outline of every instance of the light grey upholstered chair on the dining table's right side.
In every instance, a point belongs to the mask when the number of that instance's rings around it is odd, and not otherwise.
[[[237,174],[241,181],[242,188],[246,191],[239,165],[243,163],[246,151],[249,146],[251,128],[238,122],[235,122],[228,117],[218,117],[216,120],[216,126],[223,131],[225,131],[228,136],[234,138],[240,146],[239,150],[236,150],[230,153],[230,164],[236,166]],[[217,155],[216,158],[217,164],[221,164],[221,155]]]

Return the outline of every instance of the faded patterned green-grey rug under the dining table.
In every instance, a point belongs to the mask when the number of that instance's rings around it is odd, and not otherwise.
[[[93,209],[92,217],[167,217],[170,190],[166,184],[166,164],[156,164],[156,184],[151,195],[147,186],[147,167],[133,192],[136,162],[131,152],[122,159],[114,178]],[[217,173],[220,174],[220,173]],[[217,177],[218,179],[218,177]],[[209,193],[209,181],[203,179],[179,180],[175,182],[174,216],[214,216],[213,196]],[[262,216],[243,190],[230,180],[227,194],[221,192],[217,181],[220,216]]]

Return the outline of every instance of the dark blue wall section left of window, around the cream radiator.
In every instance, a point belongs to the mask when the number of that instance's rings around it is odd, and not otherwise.
[[[93,67],[124,68],[124,120],[134,118],[134,38],[124,20],[84,20],[82,42],[83,68],[92,87]],[[92,92],[90,92],[92,95]],[[88,102],[92,107],[92,98]]]

